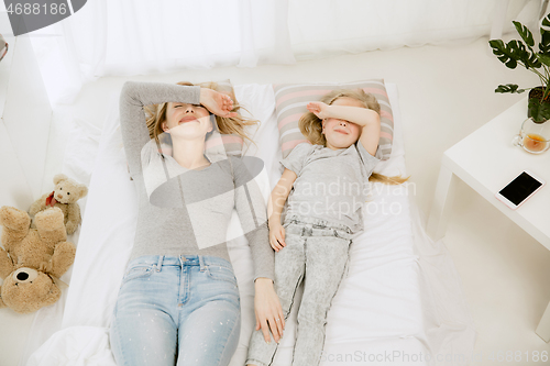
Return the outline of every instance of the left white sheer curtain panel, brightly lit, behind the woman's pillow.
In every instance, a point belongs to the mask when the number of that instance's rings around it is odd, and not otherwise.
[[[102,76],[295,63],[287,0],[88,0],[32,33],[52,102]]]

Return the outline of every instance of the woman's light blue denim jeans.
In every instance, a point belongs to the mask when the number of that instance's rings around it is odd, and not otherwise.
[[[142,256],[122,279],[110,331],[119,366],[228,365],[241,333],[233,267],[216,256]]]

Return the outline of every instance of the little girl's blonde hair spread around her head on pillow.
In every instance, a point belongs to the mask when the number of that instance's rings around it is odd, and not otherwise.
[[[320,101],[326,104],[332,104],[338,98],[353,98],[360,101],[364,108],[372,109],[380,114],[380,103],[376,98],[362,89],[337,89],[324,95]],[[314,145],[322,145],[327,147],[327,138],[322,134],[322,121],[312,112],[304,114],[298,125],[301,133]],[[388,177],[382,174],[373,173],[369,177],[369,181],[380,181],[386,185],[400,185],[408,180],[409,177],[403,178],[402,176]]]

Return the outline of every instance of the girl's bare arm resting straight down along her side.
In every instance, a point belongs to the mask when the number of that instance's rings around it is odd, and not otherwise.
[[[285,202],[296,181],[296,173],[285,168],[283,176],[275,186],[267,202],[267,215],[270,225],[270,244],[275,251],[279,251],[285,246],[285,229],[280,224],[280,213],[285,207]]]

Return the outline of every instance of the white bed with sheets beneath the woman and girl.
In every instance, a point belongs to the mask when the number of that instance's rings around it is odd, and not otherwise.
[[[392,157],[378,164],[375,171],[406,175],[397,87],[386,84],[386,88],[394,112],[394,146]],[[282,171],[272,87],[241,85],[235,86],[235,93],[261,121],[257,130],[252,130],[258,149],[251,145],[245,155],[265,162],[264,176],[273,187]],[[79,138],[73,137],[76,142]],[[75,149],[70,151],[70,146]],[[72,157],[64,165],[64,173],[85,182],[94,171],[88,197],[81,204],[82,225],[73,237],[77,241],[76,260],[62,277],[70,284],[56,304],[37,312],[22,365],[116,365],[108,333],[133,243],[138,207],[114,100],[99,146],[91,144],[84,153],[81,148],[81,144],[73,142],[66,153]],[[90,154],[97,154],[92,169]],[[328,315],[321,365],[468,364],[475,331],[460,279],[442,242],[433,243],[425,234],[413,193],[405,186],[374,185],[373,201],[364,208],[365,232],[351,246],[349,274]],[[238,222],[233,220],[232,225]],[[245,240],[231,241],[229,247],[242,307],[241,339],[233,366],[245,361],[254,326],[254,293],[252,257]],[[301,289],[297,296],[299,301]],[[292,364],[290,335],[296,331],[296,315],[294,307],[274,365]]]

